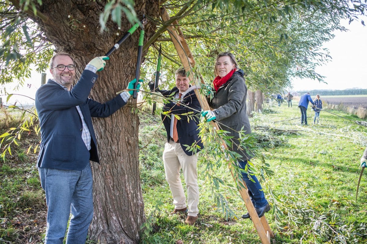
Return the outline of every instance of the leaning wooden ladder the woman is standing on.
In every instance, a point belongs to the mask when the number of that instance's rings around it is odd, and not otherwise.
[[[168,15],[165,7],[161,7],[161,17],[164,22],[167,22],[168,20],[170,20],[170,16]],[[190,71],[189,79],[191,81],[193,80],[195,81],[193,74],[191,72],[192,67],[195,66],[195,61],[189,49],[189,46],[185,38],[183,37],[182,31],[179,28],[177,20],[172,22],[172,25],[167,27],[167,31],[170,34],[170,37],[177,50],[178,56],[181,59],[183,67],[185,68],[186,72]],[[204,83],[203,78],[201,76],[200,76],[200,79],[201,79],[201,82]],[[206,97],[201,95],[197,89],[195,89],[195,94],[198,98],[201,97],[201,99],[199,99],[201,108],[203,110],[210,110],[210,106],[206,100]],[[219,126],[216,122],[211,121],[211,123],[214,129],[219,129]],[[225,142],[223,142],[223,146],[227,148],[227,145]],[[235,179],[235,182],[239,182],[237,174],[234,173],[232,162],[229,161],[228,167],[229,167],[230,172],[232,173],[233,178]],[[237,188],[240,192],[240,195],[243,201],[245,202],[246,208],[259,234],[260,240],[263,244],[270,244],[270,237],[273,238],[274,234],[272,230],[270,229],[270,226],[268,224],[268,221],[265,218],[265,215],[261,218],[258,217],[255,207],[251,202],[250,195],[248,195],[246,183],[243,182],[243,185],[246,188],[241,187],[241,185],[239,184],[237,184]]]

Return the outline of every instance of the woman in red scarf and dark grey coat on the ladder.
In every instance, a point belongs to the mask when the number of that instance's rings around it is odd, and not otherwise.
[[[243,77],[244,72],[239,69],[235,56],[232,53],[225,52],[218,55],[214,74],[217,76],[213,81],[215,92],[213,98],[208,101],[211,108],[214,109],[203,111],[202,115],[206,117],[207,121],[215,119],[225,125],[222,126],[224,127],[222,129],[228,131],[229,136],[233,136],[233,144],[229,149],[241,155],[238,164],[240,168],[244,169],[247,160],[252,158],[250,152],[236,146],[239,144],[238,131],[242,127],[246,131],[245,134],[251,133],[250,121],[246,111],[247,86]],[[248,194],[260,218],[270,210],[270,206],[256,176],[250,176],[255,182],[251,181],[248,178],[249,176],[246,172],[242,173],[242,178],[248,188]],[[250,215],[248,213],[244,214],[242,218],[250,218]]]

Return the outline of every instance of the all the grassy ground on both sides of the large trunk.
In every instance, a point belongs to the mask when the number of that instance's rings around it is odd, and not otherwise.
[[[250,119],[252,127],[256,126],[253,132],[268,138],[262,153],[274,173],[261,184],[266,198],[276,207],[274,213],[266,214],[275,233],[272,243],[366,243],[366,175],[361,179],[357,201],[355,194],[367,128],[324,112],[320,113],[320,123],[313,125],[311,109],[308,115],[310,125],[302,127],[299,108],[282,105],[264,108],[262,114]],[[140,146],[152,139],[139,154],[145,212],[151,228],[142,234],[140,243],[261,243],[249,219],[225,218],[204,177],[206,164],[201,160],[200,213],[196,225],[185,225],[184,215],[169,215],[173,204],[161,159],[165,131],[159,127],[159,115],[143,113],[140,118]],[[0,243],[40,243],[46,206],[35,168],[36,155],[27,155],[21,148],[14,149],[12,155],[0,162]],[[213,154],[204,150],[200,157],[212,158]],[[253,162],[260,164],[259,159]],[[225,165],[216,173],[232,181]],[[229,188],[221,186],[218,193],[237,216],[246,212],[242,200]]]

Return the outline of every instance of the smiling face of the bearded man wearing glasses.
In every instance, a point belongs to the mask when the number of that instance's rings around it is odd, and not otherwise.
[[[74,65],[74,62],[69,56],[59,55],[54,58],[52,65],[53,65],[52,67],[55,67],[57,65],[68,66],[68,65]],[[59,71],[57,67],[55,67],[50,69],[50,72],[57,83],[67,87],[70,90],[70,87],[75,80],[75,70],[70,71],[68,67],[65,67],[65,70]]]

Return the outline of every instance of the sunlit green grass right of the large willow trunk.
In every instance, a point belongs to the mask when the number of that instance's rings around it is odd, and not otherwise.
[[[312,117],[308,119],[308,127],[301,127],[297,106],[274,106],[264,111],[271,113],[255,114],[251,119],[252,126],[299,130],[297,135],[278,135],[277,139],[287,140],[283,146],[263,149],[266,162],[270,164],[274,175],[262,182],[262,185],[271,187],[279,198],[275,200],[269,194],[269,189],[265,188],[269,202],[276,204],[279,210],[276,214],[266,214],[276,234],[275,242],[367,241],[366,176],[361,180],[359,198],[355,200],[360,173],[359,159],[367,144],[367,129],[325,112],[321,112],[319,124],[312,125]],[[358,120],[344,113],[336,113]],[[314,115],[311,109],[308,115]],[[274,123],[293,118],[297,119]],[[164,140],[163,128],[159,131]],[[145,132],[144,127],[141,132]],[[170,189],[164,180],[161,161],[163,145],[164,142],[159,142],[158,148],[155,148],[158,151],[149,153],[149,150],[144,150],[141,155],[142,168],[146,167],[142,157],[152,157],[149,162],[155,162],[149,168],[155,182],[150,183],[149,187],[144,184],[143,189],[146,215],[153,213],[156,218],[153,231],[142,239],[142,243],[261,243],[250,220],[225,219],[225,215],[216,206],[210,184],[200,173],[200,216],[197,225],[186,226],[183,223],[185,216],[170,216],[173,205]],[[207,154],[210,156],[210,152],[201,153],[205,157]],[[254,162],[259,160],[255,159]],[[198,171],[202,172],[205,166],[199,164]],[[223,179],[232,180],[226,166],[222,166],[217,174]],[[219,191],[237,216],[246,212],[244,203],[237,195],[230,194],[224,187]],[[159,211],[155,208],[157,199],[162,202]]]

